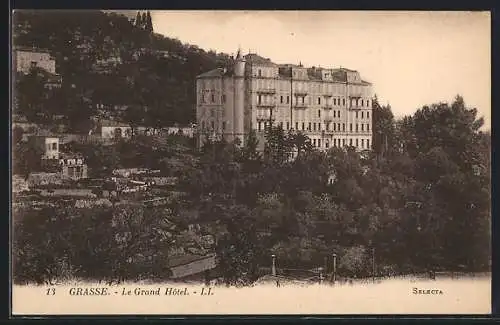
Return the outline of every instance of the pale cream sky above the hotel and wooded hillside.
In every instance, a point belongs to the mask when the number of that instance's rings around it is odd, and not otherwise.
[[[156,33],[276,63],[346,67],[396,116],[461,94],[491,120],[487,12],[152,11]]]

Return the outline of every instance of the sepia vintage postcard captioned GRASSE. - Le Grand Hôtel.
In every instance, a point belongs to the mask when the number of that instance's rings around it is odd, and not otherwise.
[[[12,314],[489,314],[489,12],[12,13]]]

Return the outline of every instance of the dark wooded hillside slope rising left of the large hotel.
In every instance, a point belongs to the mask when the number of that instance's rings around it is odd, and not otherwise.
[[[97,10],[19,11],[13,33],[14,46],[47,49],[56,59],[63,85],[48,96],[57,104],[44,109],[65,115],[70,125],[98,107],[111,115],[125,109],[122,119],[135,124],[194,122],[196,76],[230,60]]]

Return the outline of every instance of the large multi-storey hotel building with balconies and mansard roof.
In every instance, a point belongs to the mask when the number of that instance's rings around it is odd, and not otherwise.
[[[273,63],[240,52],[231,66],[197,77],[197,132],[239,138],[251,129],[259,143],[269,123],[307,135],[318,149],[372,145],[372,85],[359,72]]]

